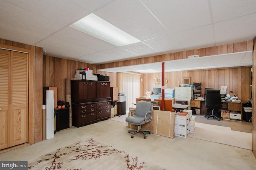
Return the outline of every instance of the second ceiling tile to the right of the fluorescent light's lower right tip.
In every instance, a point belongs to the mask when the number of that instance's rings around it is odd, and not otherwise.
[[[185,50],[215,46],[212,25],[180,32],[174,34],[174,37]]]

